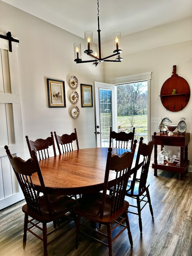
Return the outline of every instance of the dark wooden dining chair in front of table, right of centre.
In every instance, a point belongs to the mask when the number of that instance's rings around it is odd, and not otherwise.
[[[134,157],[136,143],[133,145],[131,152],[125,152],[120,157],[118,155],[112,155],[112,148],[108,149],[107,164],[104,178],[104,188],[102,193],[83,195],[82,200],[73,207],[74,212],[77,215],[76,222],[76,249],[79,242],[81,242],[80,233],[89,235],[88,230],[92,230],[93,233],[107,237],[107,243],[100,239],[91,236],[97,242],[107,246],[109,248],[109,255],[112,256],[112,243],[117,237],[124,231],[128,230],[128,237],[133,246],[133,240],[131,236],[131,230],[129,226],[127,207],[129,203],[125,201],[125,192],[127,188],[128,178],[130,175],[131,164]],[[108,179],[110,170],[115,171],[116,178],[114,181],[114,190],[112,195],[107,194]],[[87,221],[86,224],[83,218],[83,222],[80,222],[80,218],[84,217]],[[88,220],[91,222],[91,227],[87,226]],[[125,221],[125,224],[123,222]],[[95,225],[93,225],[95,223]],[[107,226],[107,234],[98,231],[94,226],[96,223]],[[113,227],[111,227],[113,225]],[[120,226],[122,228],[120,228]],[[118,228],[117,228],[118,227]],[[117,229],[116,229],[117,228]],[[85,229],[85,230],[84,230]],[[114,235],[113,230],[116,229]],[[113,235],[113,238],[112,238]]]

